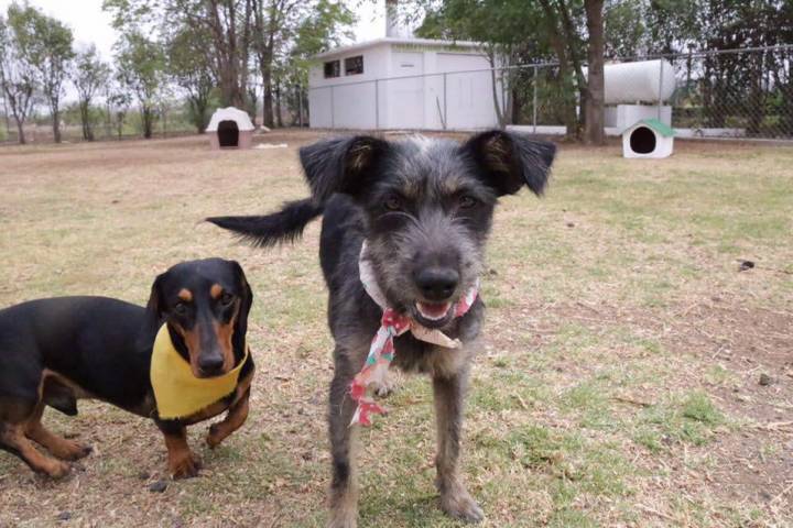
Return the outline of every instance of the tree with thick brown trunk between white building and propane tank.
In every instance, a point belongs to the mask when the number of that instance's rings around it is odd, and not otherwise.
[[[500,55],[507,65],[525,57],[536,62],[546,58],[551,51],[558,61],[554,81],[558,85],[567,134],[580,138],[585,124],[587,141],[602,142],[604,0],[414,0],[414,3],[427,11],[419,30],[422,36],[486,43],[488,55]],[[585,56],[590,63],[589,75],[594,73],[593,91],[584,72]],[[525,74],[509,74],[508,79],[512,84],[511,113],[515,116],[523,106],[520,82],[537,79]],[[576,100],[576,91],[580,100]],[[584,109],[583,116],[589,118],[589,125],[579,122],[578,106]]]

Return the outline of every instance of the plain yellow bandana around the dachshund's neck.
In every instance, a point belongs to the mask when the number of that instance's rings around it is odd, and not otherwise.
[[[184,418],[228,396],[237,388],[239,373],[247,361],[246,345],[245,358],[228,373],[217,377],[195,377],[189,363],[171,342],[167,324],[163,324],[154,339],[149,373],[160,418]]]

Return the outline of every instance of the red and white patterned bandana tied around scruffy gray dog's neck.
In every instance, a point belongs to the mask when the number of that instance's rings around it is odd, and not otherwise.
[[[441,330],[426,328],[414,319],[404,314],[399,314],[388,306],[385,295],[377,283],[371,260],[367,254],[366,241],[363,241],[358,258],[358,271],[360,280],[363,284],[363,289],[366,289],[369,297],[383,310],[382,318],[380,319],[380,328],[372,339],[363,369],[361,369],[350,384],[350,396],[358,404],[358,408],[356,408],[355,415],[352,415],[350,426],[355,424],[369,426],[371,425],[370,415],[382,415],[385,413],[385,409],[374,403],[374,399],[368,394],[367,389],[372,383],[382,384],[384,381],[385,373],[397,353],[394,349],[394,338],[397,336],[402,336],[410,330],[414,338],[447,349],[457,349],[461,343],[459,339],[450,339]],[[478,293],[479,280],[477,280],[466,295],[453,307],[455,310],[454,316],[461,317],[468,312]]]

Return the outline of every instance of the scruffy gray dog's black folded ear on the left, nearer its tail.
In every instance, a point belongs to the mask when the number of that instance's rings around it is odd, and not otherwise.
[[[323,204],[334,193],[357,196],[388,148],[387,141],[371,135],[336,138],[302,147],[301,164],[314,200]]]

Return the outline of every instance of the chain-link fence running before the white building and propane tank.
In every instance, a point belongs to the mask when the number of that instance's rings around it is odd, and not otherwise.
[[[793,139],[793,45],[608,59],[605,77],[610,135],[655,118],[683,138]],[[586,79],[555,63],[351,78],[308,89],[311,125],[574,134]]]

